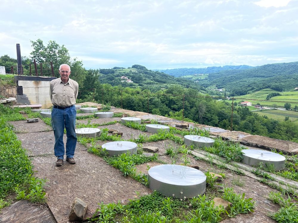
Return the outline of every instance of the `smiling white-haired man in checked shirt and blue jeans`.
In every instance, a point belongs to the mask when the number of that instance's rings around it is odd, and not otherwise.
[[[75,147],[77,136],[75,134],[75,120],[77,110],[75,103],[77,99],[79,85],[69,78],[71,71],[67,64],[59,67],[60,78],[56,78],[50,83],[50,98],[52,100],[52,128],[55,136],[54,152],[57,156],[56,166],[63,165],[64,143],[63,134],[66,128],[66,161],[75,164]]]

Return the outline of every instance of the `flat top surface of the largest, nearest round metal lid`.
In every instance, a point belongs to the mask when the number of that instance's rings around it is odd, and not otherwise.
[[[176,164],[162,164],[151,167],[148,170],[148,175],[162,183],[179,186],[197,185],[206,180],[206,176],[202,171]]]

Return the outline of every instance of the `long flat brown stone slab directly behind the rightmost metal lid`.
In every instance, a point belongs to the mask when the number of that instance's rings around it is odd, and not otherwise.
[[[284,154],[298,154],[298,143],[280,139],[271,139],[265,136],[249,135],[240,140],[244,145],[259,147],[271,151],[276,149]]]

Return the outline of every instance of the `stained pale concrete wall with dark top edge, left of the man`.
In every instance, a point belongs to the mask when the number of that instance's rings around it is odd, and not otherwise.
[[[43,109],[50,108],[50,81],[55,77],[15,76],[18,104],[41,104]]]

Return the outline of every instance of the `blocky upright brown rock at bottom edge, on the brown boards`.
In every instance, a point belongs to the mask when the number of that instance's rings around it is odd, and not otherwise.
[[[69,221],[83,221],[86,215],[88,204],[82,199],[76,197],[72,202],[72,208],[69,213]]]

